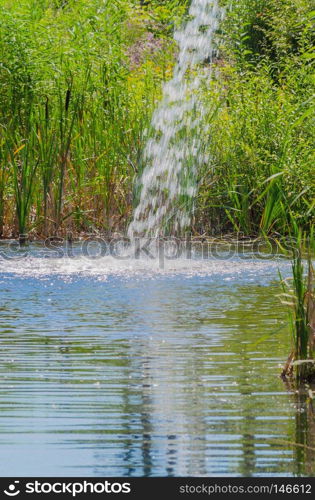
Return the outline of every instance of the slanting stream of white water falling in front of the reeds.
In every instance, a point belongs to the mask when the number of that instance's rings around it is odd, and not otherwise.
[[[174,35],[179,46],[173,78],[152,118],[153,137],[144,150],[141,193],[128,229],[136,236],[179,234],[190,223],[196,172],[206,161],[201,127],[202,83],[211,78],[215,32],[223,17],[218,0],[192,0],[190,20]]]

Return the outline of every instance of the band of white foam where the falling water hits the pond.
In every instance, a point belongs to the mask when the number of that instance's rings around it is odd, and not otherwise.
[[[289,263],[279,260],[262,260],[254,256],[246,259],[218,258],[179,258],[174,260],[128,258],[119,260],[113,256],[90,259],[75,258],[38,258],[25,257],[20,260],[0,259],[0,275],[12,277],[44,278],[60,276],[63,278],[91,277],[106,280],[109,277],[149,278],[158,276],[213,276],[229,281],[244,278],[253,281],[272,280],[277,276],[277,269],[288,268]]]

